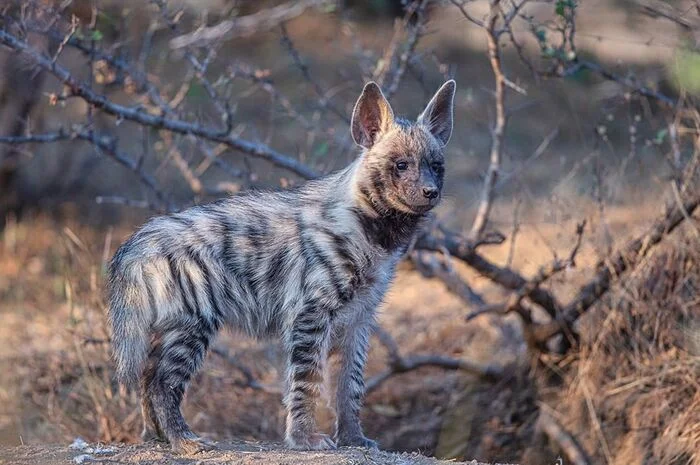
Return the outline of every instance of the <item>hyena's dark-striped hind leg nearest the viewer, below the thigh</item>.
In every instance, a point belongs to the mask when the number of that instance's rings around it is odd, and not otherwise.
[[[153,377],[146,384],[144,401],[150,403],[157,430],[177,453],[194,454],[213,448],[192,432],[180,410],[187,385],[204,360],[210,337],[191,328],[173,331],[160,339],[159,350],[154,351],[157,355]]]

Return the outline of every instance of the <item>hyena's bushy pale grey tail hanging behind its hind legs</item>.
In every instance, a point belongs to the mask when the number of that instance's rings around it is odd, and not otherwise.
[[[141,378],[151,345],[153,312],[148,282],[140,266],[121,266],[118,256],[110,267],[109,322],[117,380],[134,387]]]

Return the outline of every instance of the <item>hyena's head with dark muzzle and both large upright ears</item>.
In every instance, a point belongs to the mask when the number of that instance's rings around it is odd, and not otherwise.
[[[422,215],[437,205],[444,149],[452,134],[455,81],[447,81],[415,122],[395,118],[374,82],[352,115],[352,137],[364,148],[359,194],[379,213]]]

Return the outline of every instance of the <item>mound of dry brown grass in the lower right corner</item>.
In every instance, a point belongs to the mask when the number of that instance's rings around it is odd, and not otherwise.
[[[583,322],[557,410],[594,463],[700,464],[700,251],[669,241]]]

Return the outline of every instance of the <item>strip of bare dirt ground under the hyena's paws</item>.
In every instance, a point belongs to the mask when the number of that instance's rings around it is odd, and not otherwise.
[[[438,465],[459,464],[436,460],[418,454],[397,454],[364,449],[345,448],[331,452],[297,452],[283,449],[279,444],[227,442],[219,449],[191,457],[173,455],[160,444],[120,446],[85,445],[83,448],[65,446],[21,446],[0,450],[1,465],[65,465],[65,464],[130,464],[130,465]],[[479,465],[472,461],[469,465]]]

